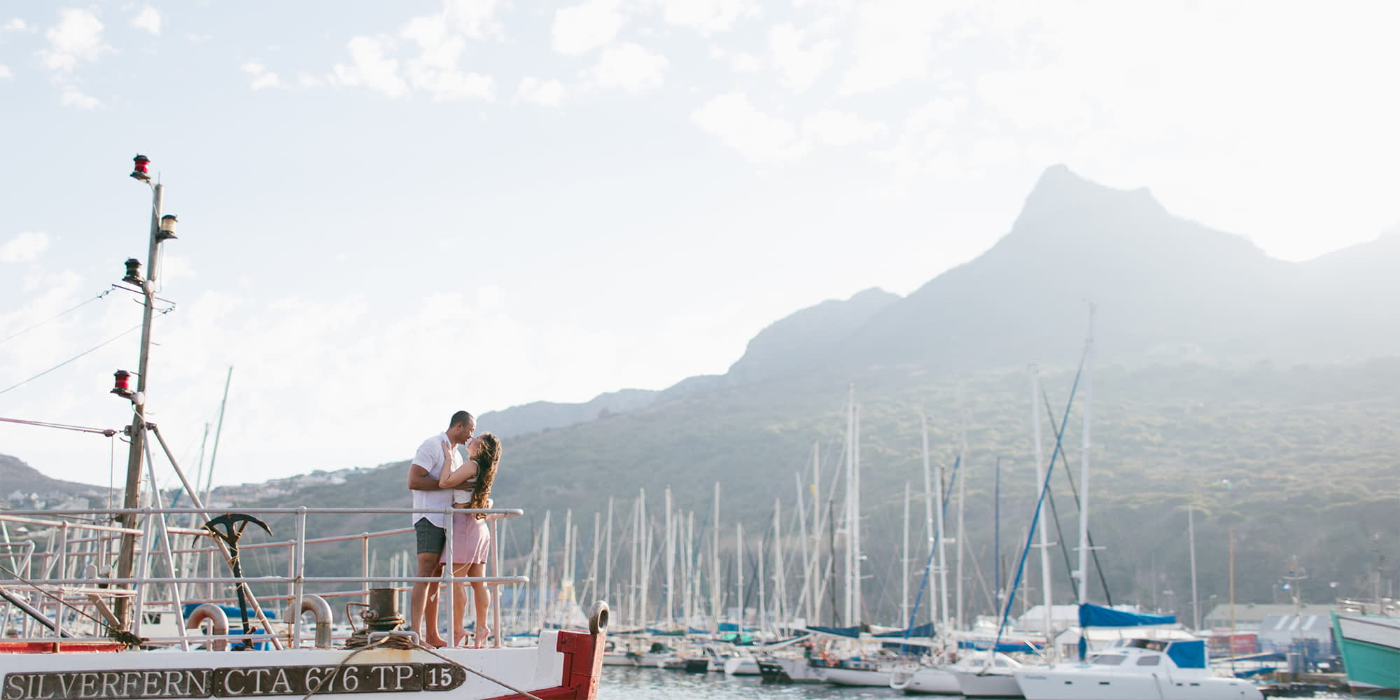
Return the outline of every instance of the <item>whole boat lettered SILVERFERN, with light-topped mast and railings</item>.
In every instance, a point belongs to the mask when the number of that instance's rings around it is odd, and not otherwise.
[[[308,538],[308,519],[365,512],[406,515],[412,508],[220,512],[203,504],[158,427],[146,420],[146,407],[154,399],[147,393],[147,378],[157,266],[161,245],[176,238],[176,220],[161,214],[164,186],[151,181],[150,160],[137,155],[134,164],[132,176],[151,186],[153,213],[144,277],[141,263],[130,259],[126,286],[118,286],[144,300],[137,385],[130,386],[133,372],[119,371],[112,389],[133,409],[132,426],[125,431],[130,438],[125,503],[115,510],[0,512],[0,524],[53,533],[52,547],[35,542],[32,556],[18,564],[10,560],[0,577],[0,598],[24,616],[21,636],[0,640],[0,696],[6,700],[364,694],[410,699],[447,693],[454,699],[596,699],[609,619],[608,605],[601,601],[589,610],[588,630],[540,630],[533,647],[505,648],[497,636],[486,648],[456,644],[434,648],[400,629],[403,617],[395,585],[440,581],[444,606],[452,609],[454,581],[486,582],[493,591],[493,629],[500,630],[500,587],[524,584],[528,578],[501,575],[498,550],[491,556],[491,575],[479,578],[452,578],[449,573],[440,580],[372,575],[368,554],[360,575],[311,577],[305,567],[308,547],[349,543],[368,553],[377,538],[402,538],[409,528]],[[190,507],[164,507],[155,489],[151,438],[181,479]],[[143,480],[151,487],[141,489]],[[511,518],[524,511],[465,512]],[[266,545],[276,547],[286,573],[244,575],[239,539],[245,532],[270,533],[259,518],[269,515],[290,521],[294,528],[290,540]],[[189,522],[190,517],[203,525],[175,525]],[[497,547],[500,522],[490,521]],[[451,550],[451,528],[447,535]],[[190,536],[197,542],[193,547],[188,545]],[[185,549],[176,549],[176,540]],[[227,573],[179,575],[179,554],[190,549],[216,567],[227,564]],[[225,592],[230,588],[232,595]],[[235,601],[237,605],[230,605]],[[349,638],[332,637],[336,622],[332,601],[344,603],[347,616],[351,609],[358,610],[351,619],[356,631]],[[238,616],[237,623],[230,622],[230,613]]]

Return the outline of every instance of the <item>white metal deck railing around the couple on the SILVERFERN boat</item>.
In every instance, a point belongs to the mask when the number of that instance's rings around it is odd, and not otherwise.
[[[171,535],[196,535],[196,536],[211,536],[207,529],[202,528],[178,528],[168,525],[169,515],[186,515],[186,517],[200,517],[204,519],[230,514],[239,512],[246,515],[293,515],[294,517],[294,538],[279,542],[256,542],[248,545],[238,545],[239,556],[248,550],[287,550],[287,574],[286,575],[241,575],[234,577],[231,571],[232,561],[230,560],[230,553],[224,546],[221,539],[216,539],[213,546],[193,546],[176,549],[171,543]],[[413,508],[109,508],[109,510],[13,510],[0,511],[0,522],[38,526],[45,528],[48,536],[48,546],[43,549],[36,545],[35,539],[42,539],[45,533],[31,532],[28,536],[31,539],[22,542],[0,542],[0,585],[4,585],[13,595],[15,592],[28,591],[31,598],[38,599],[39,594],[48,594],[39,601],[39,610],[49,605],[55,606],[55,615],[52,617],[53,629],[48,636],[31,636],[32,622],[27,619],[25,630],[27,634],[18,641],[55,641],[56,638],[66,637],[67,631],[63,629],[64,608],[71,608],[80,610],[81,606],[92,609],[92,612],[105,615],[104,599],[112,599],[118,596],[130,598],[134,603],[136,615],[132,616],[130,631],[140,636],[141,631],[141,615],[140,610],[144,606],[161,606],[174,605],[176,619],[179,620],[178,637],[150,637],[150,643],[178,643],[183,648],[189,648],[190,640],[185,634],[183,624],[183,596],[181,588],[192,591],[196,584],[207,584],[206,595],[199,599],[199,602],[234,602],[234,598],[216,596],[216,584],[232,584],[234,587],[241,587],[248,598],[249,612],[263,624],[263,633],[248,633],[248,634],[224,634],[224,636],[200,636],[199,641],[213,640],[213,638],[266,638],[274,647],[280,648],[283,637],[284,641],[291,647],[301,645],[304,613],[302,602],[307,595],[307,584],[358,584],[357,588],[349,591],[325,591],[318,592],[322,598],[332,596],[364,596],[368,594],[370,584],[384,582],[384,584],[416,584],[416,582],[437,582],[440,584],[438,599],[445,603],[448,620],[452,619],[452,610],[456,602],[456,585],[458,582],[473,584],[483,582],[491,589],[491,610],[493,620],[491,629],[497,630],[494,636],[496,645],[500,645],[501,640],[501,594],[500,585],[503,584],[525,584],[529,582],[528,577],[507,577],[500,575],[500,561],[501,561],[501,539],[500,526],[501,518],[512,518],[524,515],[519,508],[445,508],[442,514],[448,524],[451,524],[451,517],[454,514],[486,514],[496,515],[496,518],[489,518],[489,528],[491,536],[491,575],[482,577],[455,577],[452,575],[452,566],[444,566],[442,574],[438,577],[417,577],[417,575],[371,575],[370,571],[370,540],[374,538],[403,535],[413,532],[413,528],[396,528],[389,531],[378,532],[360,532],[356,535],[333,535],[322,538],[307,538],[307,518],[309,515],[347,515],[347,514],[414,514],[423,512]],[[137,514],[143,517],[143,528],[122,528],[119,525],[112,525],[118,515]],[[153,515],[160,515],[154,518]],[[83,519],[87,518],[87,519]],[[160,524],[160,535],[155,533],[155,525]],[[80,536],[70,536],[70,531],[78,531]],[[112,557],[112,543],[123,533],[132,533],[140,536],[140,547],[137,550],[137,561],[141,566],[137,567],[137,575],[127,578],[113,578],[101,577],[97,574],[99,566],[109,561]],[[444,546],[445,552],[452,552],[452,528],[445,528],[447,543]],[[85,535],[85,536],[81,536]],[[158,538],[160,546],[153,546],[151,538]],[[361,554],[361,575],[358,577],[308,577],[305,575],[305,556],[307,547],[309,545],[330,545],[337,542],[360,542]],[[179,556],[179,557],[176,557]],[[196,568],[200,556],[207,556],[209,573],[210,575],[178,575],[178,573],[190,568],[189,559],[193,559]],[[165,571],[174,575],[157,577],[147,575],[148,561],[160,557],[165,564]],[[218,559],[223,557],[227,564],[230,564],[228,575],[213,575]],[[18,560],[18,564],[14,561]],[[179,560],[179,566],[176,564]],[[448,556],[451,561],[451,556]],[[88,575],[73,575],[70,568],[85,561],[85,573]],[[416,560],[412,560],[416,566]],[[56,571],[56,574],[55,574]],[[169,599],[157,599],[157,587],[165,585],[169,591]],[[283,595],[260,595],[255,596],[252,592],[252,585],[266,587],[286,585],[286,594]],[[73,588],[77,587],[77,588]],[[45,591],[52,588],[56,592]],[[147,591],[151,591],[151,599],[147,601]],[[237,588],[235,588],[237,589]],[[447,595],[441,595],[445,591]],[[64,595],[81,595],[88,599],[85,603],[74,603],[64,599]],[[288,615],[283,617],[281,626],[286,631],[274,633],[274,624],[267,620],[267,616],[262,610],[259,601],[286,601],[286,610]],[[190,601],[195,602],[195,601]],[[3,601],[4,616],[0,617],[0,623],[8,626],[13,615],[13,603]],[[85,613],[84,613],[85,615]],[[91,616],[90,616],[91,617]],[[405,613],[406,619],[412,619],[412,612]],[[347,620],[349,622],[349,620]],[[451,622],[449,622],[451,624]],[[94,630],[99,629],[94,624]],[[246,631],[246,630],[245,630]],[[455,634],[449,637],[451,643],[455,645]]]

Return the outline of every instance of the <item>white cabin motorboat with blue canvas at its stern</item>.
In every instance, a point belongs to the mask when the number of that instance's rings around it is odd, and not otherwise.
[[[1084,662],[1012,672],[1026,700],[1261,700],[1253,683],[1210,671],[1204,640],[1126,640]]]

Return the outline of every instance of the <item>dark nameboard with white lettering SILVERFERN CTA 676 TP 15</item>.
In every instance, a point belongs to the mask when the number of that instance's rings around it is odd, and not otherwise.
[[[454,690],[466,672],[451,664],[168,668],[7,673],[0,700],[175,700],[318,693]]]

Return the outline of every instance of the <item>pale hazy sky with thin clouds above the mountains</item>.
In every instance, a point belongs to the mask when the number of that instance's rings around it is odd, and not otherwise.
[[[144,262],[137,153],[181,217],[151,420],[193,470],[234,365],[218,483],[724,372],[777,318],[976,256],[1056,162],[1308,259],[1400,220],[1396,27],[1385,0],[8,1],[0,389],[140,323],[113,291],[24,332]],[[137,343],[0,417],[125,426]],[[125,445],[0,423],[0,454],[105,484]]]

